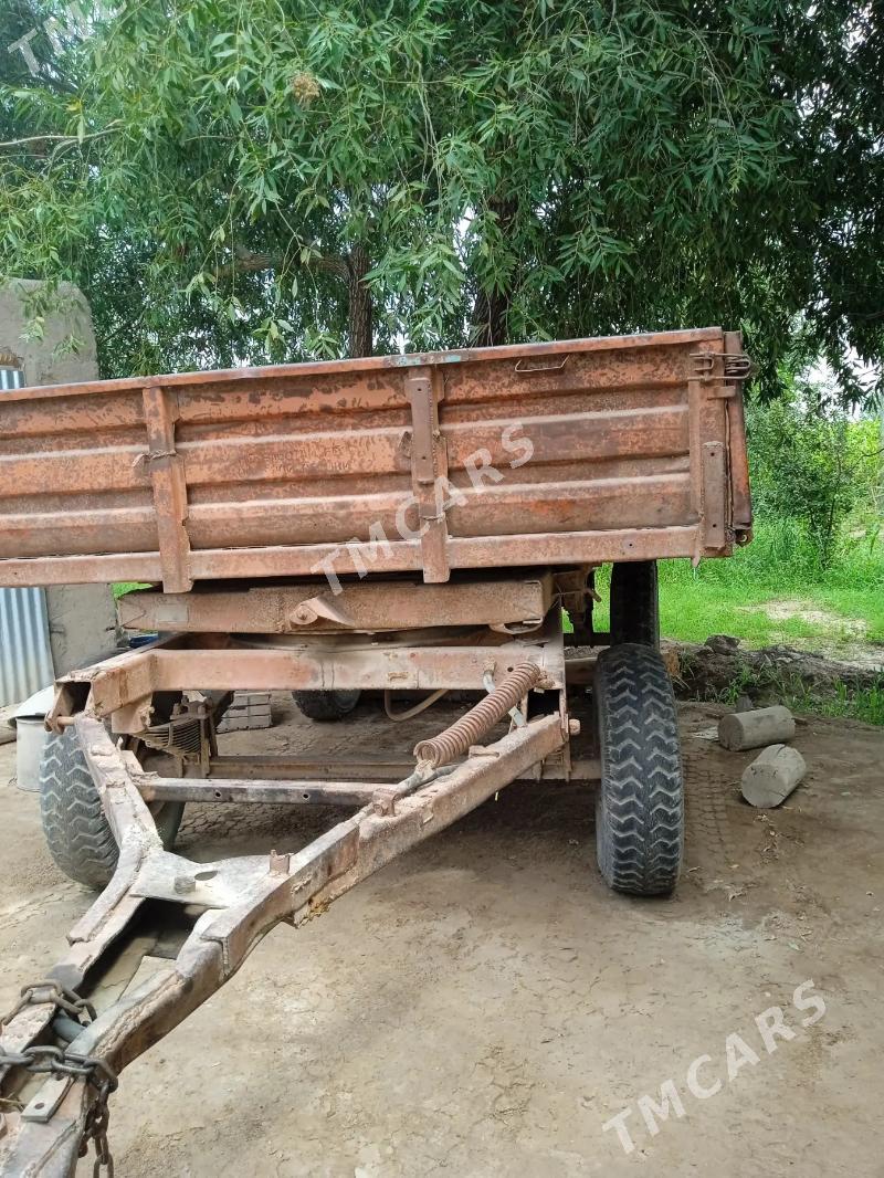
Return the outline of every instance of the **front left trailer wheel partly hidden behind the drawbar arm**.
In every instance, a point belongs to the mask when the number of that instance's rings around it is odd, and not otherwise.
[[[152,807],[163,846],[178,834],[183,802]],[[40,762],[40,818],[46,845],[65,875],[90,888],[105,887],[119,849],[73,727],[51,735]]]

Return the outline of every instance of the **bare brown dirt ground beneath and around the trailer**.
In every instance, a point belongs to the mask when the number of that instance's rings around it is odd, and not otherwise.
[[[760,813],[738,794],[752,754],[708,739],[720,712],[681,709],[674,899],[606,891],[591,788],[510,786],[321,919],[277,928],[126,1071],[119,1178],[884,1176],[884,734],[800,722],[809,775]],[[282,752],[312,739],[289,720],[229,740]],[[387,722],[369,710],[336,740],[376,750]],[[0,783],[13,766],[14,746],[0,748]],[[37,796],[0,788],[0,806],[4,1010],[88,896],[50,860]],[[332,816],[197,810],[179,846],[204,860],[296,849]],[[811,979],[803,993],[825,1013],[804,1026],[814,1011],[793,992]],[[768,1053],[754,1020],[772,1006],[793,1037]],[[701,1055],[705,1098],[688,1084]],[[649,1112],[652,1136],[639,1100],[659,1103],[667,1080],[681,1108]],[[603,1130],[624,1110],[629,1153]]]

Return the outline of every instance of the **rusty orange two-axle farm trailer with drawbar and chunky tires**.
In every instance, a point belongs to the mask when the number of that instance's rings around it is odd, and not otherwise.
[[[44,830],[103,891],[2,1021],[0,1173],[68,1178],[90,1143],[112,1172],[127,1064],[275,925],[513,781],[598,782],[606,881],[672,892],[655,561],[751,536],[747,371],[739,336],[704,329],[0,397],[0,585],[146,582],[120,620],[159,633],[57,683]],[[460,702],[401,757],[243,759],[217,735],[238,688],[292,691],[317,721],[347,722],[361,693],[400,721]],[[352,813],[306,847],[206,863],[173,849],[200,802]]]

